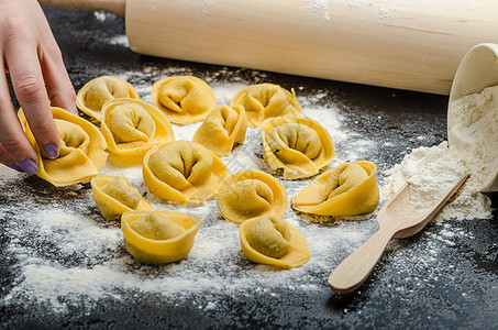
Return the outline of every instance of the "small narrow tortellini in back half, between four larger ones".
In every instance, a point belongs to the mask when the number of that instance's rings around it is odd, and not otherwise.
[[[197,129],[192,141],[221,157],[232,151],[234,143],[244,142],[246,130],[244,108],[218,106]]]

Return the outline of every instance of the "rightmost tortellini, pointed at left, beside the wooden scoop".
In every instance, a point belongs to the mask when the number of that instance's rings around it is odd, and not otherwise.
[[[317,177],[291,198],[296,210],[333,217],[374,211],[379,201],[376,166],[366,161],[342,164]]]

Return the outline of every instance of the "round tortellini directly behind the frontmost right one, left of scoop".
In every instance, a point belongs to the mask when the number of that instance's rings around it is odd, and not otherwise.
[[[261,170],[239,172],[226,178],[217,200],[223,218],[236,224],[268,213],[281,218],[287,210],[284,186]]]

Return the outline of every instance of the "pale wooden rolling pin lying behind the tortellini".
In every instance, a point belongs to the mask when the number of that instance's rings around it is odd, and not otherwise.
[[[134,52],[447,95],[497,0],[41,0],[125,16]],[[398,3],[399,2],[399,3]]]

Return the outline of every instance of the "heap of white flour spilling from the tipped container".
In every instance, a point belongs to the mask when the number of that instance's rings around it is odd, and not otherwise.
[[[465,174],[460,196],[436,219],[487,219],[490,200],[479,193],[498,168],[498,86],[453,101],[449,107],[447,142],[420,147],[387,172],[383,195],[392,196],[406,182],[414,208],[423,212]]]

